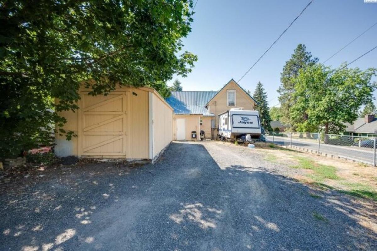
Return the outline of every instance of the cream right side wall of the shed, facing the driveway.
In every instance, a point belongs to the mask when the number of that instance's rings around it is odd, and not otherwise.
[[[173,140],[173,110],[153,93],[153,157]]]

